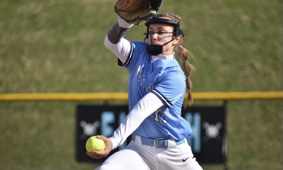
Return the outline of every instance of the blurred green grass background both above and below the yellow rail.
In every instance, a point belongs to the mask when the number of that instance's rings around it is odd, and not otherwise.
[[[103,44],[118,18],[115,3],[0,1],[0,93],[127,92],[127,70]],[[182,18],[194,55],[192,93],[282,91],[282,7],[281,0],[165,0],[158,13]],[[143,41],[144,32],[142,23],[125,38]],[[99,166],[75,161],[75,107],[104,102],[0,101],[0,169]],[[227,102],[228,169],[283,169],[282,109],[281,99]]]

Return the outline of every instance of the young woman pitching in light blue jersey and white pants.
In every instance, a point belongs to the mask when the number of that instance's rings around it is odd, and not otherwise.
[[[184,33],[175,14],[158,14],[146,21],[146,42],[124,39],[133,24],[119,18],[108,31],[105,46],[118,57],[118,64],[130,75],[129,114],[110,138],[99,136],[106,144],[103,152],[87,152],[99,159],[123,144],[132,134],[128,146],[114,153],[97,169],[202,169],[191,152],[186,137],[190,124],[181,117],[181,107],[188,89],[191,97],[191,65],[188,50],[181,46]],[[145,40],[144,40],[145,41]],[[183,70],[175,53],[183,61]]]

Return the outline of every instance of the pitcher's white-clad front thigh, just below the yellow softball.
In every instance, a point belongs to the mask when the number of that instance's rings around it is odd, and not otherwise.
[[[148,166],[138,155],[130,149],[120,150],[108,157],[100,167],[95,170],[149,170]]]

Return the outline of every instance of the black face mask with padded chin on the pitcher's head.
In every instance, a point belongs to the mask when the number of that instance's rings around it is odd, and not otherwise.
[[[152,32],[149,32],[149,25],[152,23],[165,23],[165,24],[170,24],[174,26],[173,32],[161,32],[161,33],[175,33],[176,34],[175,38],[177,38],[179,35],[185,36],[183,31],[180,29],[179,22],[171,20],[171,19],[165,19],[165,18],[151,18],[151,19],[148,19],[147,22],[145,23],[145,25],[147,26],[147,33],[143,33],[146,35],[145,39],[148,39],[149,34],[150,35],[153,34]],[[143,41],[146,44],[145,39]],[[174,39],[170,40],[169,42],[173,41]],[[158,44],[147,45],[147,52],[151,55],[161,54],[163,50],[163,46],[168,44],[169,42],[162,44],[162,45],[158,45]]]

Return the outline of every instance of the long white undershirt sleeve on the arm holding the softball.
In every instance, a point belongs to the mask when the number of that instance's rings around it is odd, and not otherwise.
[[[112,150],[121,146],[145,118],[163,105],[163,102],[153,93],[145,95],[129,112],[118,129],[114,131],[113,136],[109,138],[113,144]]]

